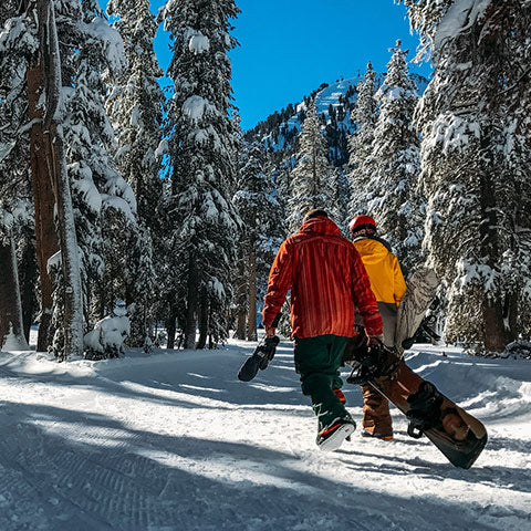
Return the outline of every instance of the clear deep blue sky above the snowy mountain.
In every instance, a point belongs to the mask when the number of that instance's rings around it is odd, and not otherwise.
[[[393,0],[236,1],[242,11],[232,21],[240,46],[230,55],[235,103],[244,129],[301,101],[323,82],[365,72],[367,61],[384,72],[397,39],[409,49],[409,59],[418,45],[418,38],[409,34],[405,8]],[[152,10],[164,3],[152,0]],[[166,69],[168,39],[162,29],[155,52]],[[429,66],[412,65],[412,71],[427,76]]]

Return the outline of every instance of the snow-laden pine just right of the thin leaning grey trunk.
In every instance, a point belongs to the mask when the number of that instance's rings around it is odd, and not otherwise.
[[[108,153],[114,132],[104,107],[104,77],[119,72],[126,61],[123,41],[97,2],[63,1],[59,20],[64,70],[71,80],[71,86],[63,88],[65,153],[82,252],[85,309],[92,308],[91,319],[95,321],[115,302],[101,282],[105,267],[102,227],[107,223],[108,232],[136,226],[133,190],[116,171]]]

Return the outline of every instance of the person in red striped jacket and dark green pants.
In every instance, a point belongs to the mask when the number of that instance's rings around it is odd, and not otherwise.
[[[319,419],[317,446],[334,450],[355,429],[341,398],[339,367],[354,335],[357,306],[368,336],[381,341],[383,324],[358,252],[324,210],[311,210],[299,232],[280,247],[269,274],[263,324],[272,322],[291,290],[295,369]],[[337,392],[334,392],[337,389]]]

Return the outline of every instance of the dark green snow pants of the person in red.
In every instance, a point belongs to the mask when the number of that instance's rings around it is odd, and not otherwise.
[[[320,430],[347,415],[345,406],[332,391],[343,385],[339,368],[347,340],[331,334],[295,337],[295,371],[301,375],[302,393],[312,398]]]

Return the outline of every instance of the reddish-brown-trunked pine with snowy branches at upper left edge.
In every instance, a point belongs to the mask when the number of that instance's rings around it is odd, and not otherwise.
[[[55,197],[50,186],[51,177],[43,147],[42,117],[44,105],[39,98],[44,90],[42,76],[39,27],[35,2],[2,2],[0,11],[0,135],[3,146],[2,176],[17,180],[24,174],[21,160],[31,162],[33,196],[35,204],[37,257],[40,272],[40,327],[38,350],[46,350],[50,343],[49,323],[52,313],[53,285],[46,271],[48,259],[56,252],[53,211]]]

